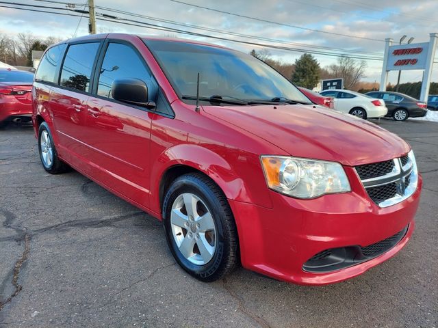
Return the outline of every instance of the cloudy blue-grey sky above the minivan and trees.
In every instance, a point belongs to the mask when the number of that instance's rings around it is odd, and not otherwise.
[[[94,0],[94,4],[98,18],[101,17],[100,14],[110,14],[119,18],[138,20],[143,23],[202,33],[208,36],[282,46],[294,49],[294,51],[268,50],[277,59],[291,63],[302,54],[300,51],[313,51],[318,53],[315,54],[315,57],[322,66],[332,64],[336,61],[334,55],[342,53],[348,53],[352,57],[382,58],[385,38],[393,38],[395,42],[398,42],[401,36],[407,35],[406,40],[413,37],[415,38],[414,42],[427,42],[429,33],[438,32],[438,20],[435,18],[438,12],[437,0],[181,1],[184,3],[172,0]],[[8,2],[63,8],[63,10],[0,3],[0,33],[14,36],[20,32],[31,32],[41,38],[47,36],[71,38],[75,35],[81,36],[88,33],[88,16],[84,15],[80,18],[80,14],[66,10],[66,8],[76,10],[85,8],[88,10],[83,6],[84,3],[88,2],[86,0],[9,0]],[[72,6],[66,3],[75,3],[76,5]],[[62,12],[79,16],[29,12],[2,8],[1,6]],[[118,12],[110,12],[108,8]],[[210,8],[210,10],[206,8]],[[128,14],[120,11],[128,12]],[[133,16],[132,13],[137,16]],[[127,20],[118,20],[118,22],[129,23]],[[158,31],[120,23],[97,20],[97,29],[100,32],[117,31],[193,38],[222,44],[244,52],[251,49],[263,49],[262,46],[203,36],[190,36],[177,33],[177,31]],[[300,51],[296,51],[296,49],[300,49]],[[435,61],[438,61],[438,54],[435,58]],[[365,81],[379,81],[382,61],[367,59],[367,63]],[[396,79],[397,73],[390,72],[389,81],[396,83]],[[420,81],[421,79],[422,71],[406,71],[402,73],[401,82]],[[435,64],[432,81],[438,81],[438,63]]]

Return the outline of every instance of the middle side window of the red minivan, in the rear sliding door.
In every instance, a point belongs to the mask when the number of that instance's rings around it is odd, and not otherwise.
[[[88,91],[91,71],[100,42],[72,44],[68,47],[61,72],[61,85]]]

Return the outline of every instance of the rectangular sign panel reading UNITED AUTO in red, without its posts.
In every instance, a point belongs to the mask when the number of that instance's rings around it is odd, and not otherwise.
[[[424,70],[429,42],[389,46],[386,70]]]

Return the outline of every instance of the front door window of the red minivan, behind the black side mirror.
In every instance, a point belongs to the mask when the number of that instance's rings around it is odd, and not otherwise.
[[[126,44],[110,43],[99,74],[97,94],[112,98],[112,83],[116,79],[140,79],[148,86],[149,100],[157,98],[157,83],[138,53]]]

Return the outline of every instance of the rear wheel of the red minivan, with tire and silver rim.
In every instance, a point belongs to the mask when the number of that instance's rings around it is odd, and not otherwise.
[[[42,122],[38,129],[38,150],[42,167],[50,174],[59,174],[68,171],[68,165],[57,156],[55,143],[46,122]]]

